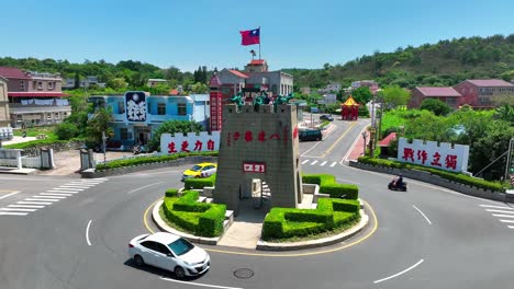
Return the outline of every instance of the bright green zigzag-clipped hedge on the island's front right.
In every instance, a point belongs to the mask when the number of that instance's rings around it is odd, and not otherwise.
[[[319,199],[317,209],[272,208],[262,222],[262,239],[322,233],[359,220],[360,204],[353,199]]]

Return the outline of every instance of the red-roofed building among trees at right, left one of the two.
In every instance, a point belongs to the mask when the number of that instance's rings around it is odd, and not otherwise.
[[[418,108],[422,102],[426,99],[436,99],[446,103],[452,108],[458,108],[462,95],[454,90],[454,88],[416,86],[412,91],[409,108]]]

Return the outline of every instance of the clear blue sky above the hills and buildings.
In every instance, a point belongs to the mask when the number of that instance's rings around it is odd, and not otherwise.
[[[243,68],[259,46],[271,70],[322,68],[454,37],[514,33],[512,0],[19,0],[1,4],[0,57],[138,60],[193,71]]]

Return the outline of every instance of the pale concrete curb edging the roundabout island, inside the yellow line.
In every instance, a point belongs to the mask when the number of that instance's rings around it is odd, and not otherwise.
[[[220,240],[222,239],[223,235],[217,236],[217,238],[203,238],[203,236],[197,236],[192,234],[188,234],[181,231],[178,231],[168,224],[160,218],[159,215],[159,209],[160,206],[163,205],[164,199],[160,199],[155,204],[154,209],[152,210],[152,220],[154,220],[155,224],[163,231],[174,233],[176,235],[180,235],[191,242],[195,242],[199,244],[206,244],[206,245],[217,245]],[[361,204],[362,206],[362,204]],[[304,250],[304,248],[314,248],[314,247],[322,247],[322,246],[327,246],[327,245],[333,245],[336,243],[340,243],[360,231],[369,223],[369,217],[368,215],[365,213],[364,209],[359,210],[360,212],[360,221],[357,226],[351,227],[350,229],[346,230],[345,232],[324,238],[324,239],[319,239],[319,240],[310,240],[310,241],[301,241],[301,242],[293,242],[293,243],[271,243],[271,242],[265,242],[265,241],[258,241],[256,250],[259,251],[294,251],[294,250]]]

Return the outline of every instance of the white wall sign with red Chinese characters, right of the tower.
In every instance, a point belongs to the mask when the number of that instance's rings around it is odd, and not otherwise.
[[[451,172],[466,172],[468,169],[469,146],[414,139],[412,143],[405,138],[398,142],[398,160],[432,166]]]

